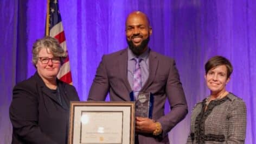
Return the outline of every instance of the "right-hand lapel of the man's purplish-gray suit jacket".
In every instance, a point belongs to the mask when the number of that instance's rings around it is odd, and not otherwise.
[[[149,78],[146,80],[146,83],[142,87],[141,91],[146,91],[146,88],[153,82],[153,79],[156,77],[156,70],[158,67],[158,59],[156,54],[150,50],[149,52]]]

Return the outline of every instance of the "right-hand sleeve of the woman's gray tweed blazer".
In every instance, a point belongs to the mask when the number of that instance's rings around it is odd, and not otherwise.
[[[246,105],[241,99],[235,99],[228,109],[227,143],[244,143],[246,134]]]

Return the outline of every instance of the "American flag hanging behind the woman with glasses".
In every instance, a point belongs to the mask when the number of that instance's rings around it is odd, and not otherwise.
[[[61,47],[67,52],[66,38],[60,16],[59,3],[57,0],[47,0],[46,36],[59,40]],[[61,81],[72,84],[72,76],[69,65],[69,57],[64,60],[57,75]]]

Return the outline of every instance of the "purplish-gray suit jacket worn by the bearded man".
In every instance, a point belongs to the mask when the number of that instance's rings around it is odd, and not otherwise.
[[[96,72],[88,100],[105,101],[110,93],[111,101],[130,101],[132,91],[127,79],[127,49],[104,55]],[[187,102],[175,61],[157,52],[149,52],[149,78],[142,87],[154,96],[152,119],[161,123],[160,136],[139,134],[139,143],[169,143],[168,132],[184,119],[188,112]],[[168,99],[171,111],[164,114]]]

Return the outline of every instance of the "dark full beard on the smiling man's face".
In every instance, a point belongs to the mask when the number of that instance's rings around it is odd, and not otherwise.
[[[132,37],[132,38],[133,38],[133,37]],[[127,44],[129,45],[130,50],[131,50],[134,54],[136,54],[137,56],[139,56],[140,54],[142,54],[142,53],[144,52],[145,47],[148,46],[148,44],[149,44],[149,39],[150,39],[150,38],[149,38],[149,36],[148,36],[148,38],[142,40],[142,43],[141,43],[140,45],[138,45],[138,46],[134,45],[134,44],[132,43],[132,40],[128,40],[127,38],[126,38],[126,42],[127,42]]]

